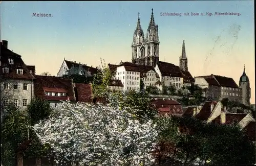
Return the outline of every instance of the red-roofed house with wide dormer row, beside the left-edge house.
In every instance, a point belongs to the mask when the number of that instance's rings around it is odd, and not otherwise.
[[[35,76],[35,97],[45,99],[52,107],[61,101],[76,102],[72,79],[55,76]]]

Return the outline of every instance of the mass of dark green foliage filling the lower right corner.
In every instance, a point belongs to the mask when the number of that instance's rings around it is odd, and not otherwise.
[[[168,121],[165,120],[161,125],[164,129],[159,129],[159,140],[164,140],[164,137],[168,140],[165,144],[160,144],[163,145],[160,149],[171,164],[174,160],[181,160],[183,164],[189,165],[255,162],[255,147],[237,124],[216,125],[187,117],[172,117]],[[182,129],[181,133],[176,131],[174,124]]]

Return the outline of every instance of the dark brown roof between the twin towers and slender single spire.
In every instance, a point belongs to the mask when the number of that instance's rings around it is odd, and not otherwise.
[[[157,65],[159,67],[159,70],[162,76],[183,78],[183,74],[179,66],[176,66],[172,63],[162,62],[162,61],[158,61]]]

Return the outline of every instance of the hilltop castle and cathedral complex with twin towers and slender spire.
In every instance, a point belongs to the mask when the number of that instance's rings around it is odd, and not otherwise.
[[[159,35],[158,25],[155,23],[152,9],[150,24],[146,37],[141,28],[140,15],[133,34],[132,63],[121,62],[119,65],[109,64],[115,72],[113,80],[120,80],[123,90],[140,90],[143,82],[144,88],[155,86],[162,91],[163,86],[191,86],[195,82],[188,72],[185,42],[183,40],[180,66],[173,63],[159,61]]]

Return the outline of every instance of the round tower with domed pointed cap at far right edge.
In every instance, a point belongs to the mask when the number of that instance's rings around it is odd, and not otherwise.
[[[243,75],[240,77],[239,86],[242,88],[242,103],[250,106],[251,88],[248,76],[245,74],[245,65]]]

